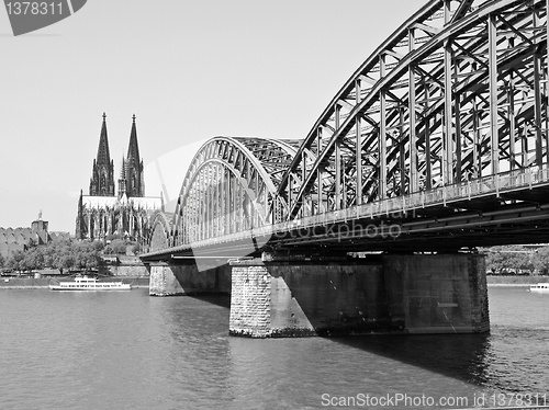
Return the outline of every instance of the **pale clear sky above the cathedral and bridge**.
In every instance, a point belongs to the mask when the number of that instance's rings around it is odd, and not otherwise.
[[[136,116],[147,196],[173,207],[208,139],[304,138],[426,0],[88,0],[14,37],[0,8],[0,227],[75,234],[103,112],[115,184]],[[160,170],[160,172],[158,172]]]

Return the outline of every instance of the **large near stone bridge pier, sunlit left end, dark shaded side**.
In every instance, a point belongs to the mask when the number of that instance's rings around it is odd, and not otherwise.
[[[490,330],[484,257],[232,262],[229,333],[251,338]]]

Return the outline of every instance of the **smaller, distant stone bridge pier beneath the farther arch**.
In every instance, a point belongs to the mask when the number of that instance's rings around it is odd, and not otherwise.
[[[179,263],[156,262],[149,265],[150,296],[229,294],[231,266],[212,265],[199,271],[194,261]]]

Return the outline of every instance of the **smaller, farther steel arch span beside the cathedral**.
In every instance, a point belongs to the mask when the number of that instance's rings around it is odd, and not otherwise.
[[[300,143],[223,136],[206,141],[182,182],[171,246],[270,224],[278,184]]]

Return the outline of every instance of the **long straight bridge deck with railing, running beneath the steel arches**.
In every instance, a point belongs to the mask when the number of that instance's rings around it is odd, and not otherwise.
[[[494,203],[498,205],[494,207]],[[204,254],[228,253],[249,249],[253,239],[268,243],[269,248],[299,246],[321,250],[329,244],[336,251],[457,250],[531,242],[533,235],[539,241],[547,241],[548,223],[549,169],[520,169],[183,243],[142,258],[190,255],[193,250]],[[485,235],[489,232],[490,237]]]

